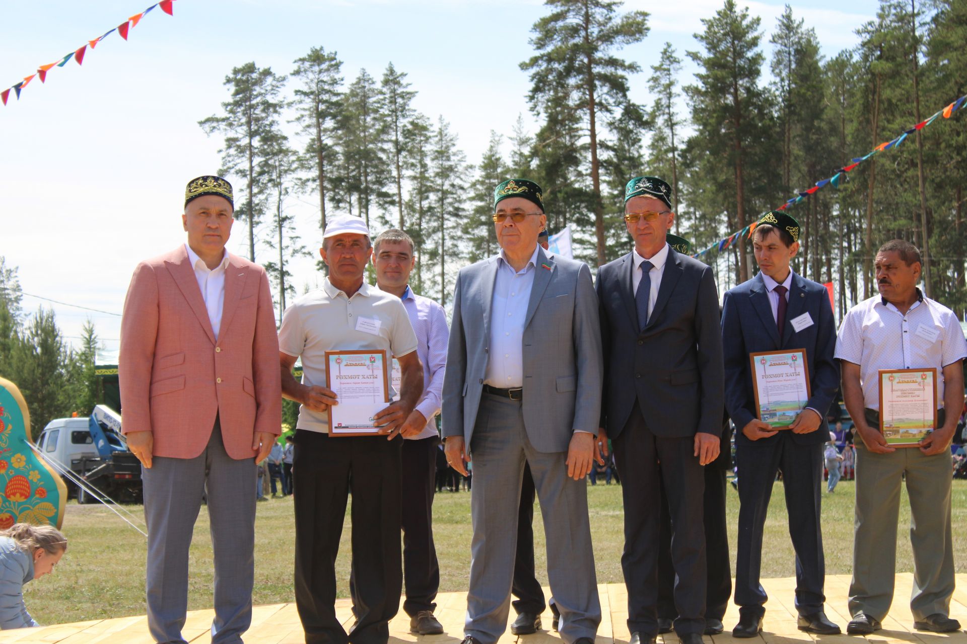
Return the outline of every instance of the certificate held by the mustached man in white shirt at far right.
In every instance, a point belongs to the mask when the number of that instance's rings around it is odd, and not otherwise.
[[[918,447],[937,427],[937,370],[881,369],[880,432],[894,447]]]

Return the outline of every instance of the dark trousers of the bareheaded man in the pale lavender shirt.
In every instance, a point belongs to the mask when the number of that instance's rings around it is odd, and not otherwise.
[[[440,438],[429,436],[403,441],[403,581],[406,601],[403,610],[410,617],[421,610],[435,610],[440,588],[440,566],[433,545],[433,492],[436,455]]]

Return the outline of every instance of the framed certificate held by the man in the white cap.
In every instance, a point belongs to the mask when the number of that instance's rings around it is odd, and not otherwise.
[[[384,350],[326,351],[326,386],[339,402],[329,407],[329,435],[378,434],[372,418],[390,404],[389,382]]]

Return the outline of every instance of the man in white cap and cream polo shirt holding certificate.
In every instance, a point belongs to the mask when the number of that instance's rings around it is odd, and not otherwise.
[[[306,644],[385,644],[402,587],[399,432],[423,392],[423,367],[402,302],[363,280],[372,254],[363,220],[332,220],[319,254],[329,276],[285,310],[278,332],[282,395],[302,405],[292,468],[296,607]],[[325,386],[325,352],[360,349],[386,350],[399,361],[400,399],[374,416],[383,435],[332,438],[328,411],[338,401]],[[300,357],[302,383],[292,376]],[[335,562],[350,492],[356,624],[347,634],[336,617]]]

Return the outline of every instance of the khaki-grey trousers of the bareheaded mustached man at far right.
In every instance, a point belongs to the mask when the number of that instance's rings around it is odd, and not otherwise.
[[[953,595],[951,531],[951,451],[923,456],[915,447],[872,454],[856,443],[856,528],[850,615],[883,620],[894,599],[896,523],[900,486],[906,475],[913,546],[914,620],[934,613],[950,615]]]

